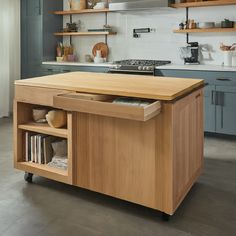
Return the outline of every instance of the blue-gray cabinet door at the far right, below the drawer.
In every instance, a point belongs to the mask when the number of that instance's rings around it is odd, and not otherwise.
[[[216,86],[216,132],[236,135],[236,87]]]

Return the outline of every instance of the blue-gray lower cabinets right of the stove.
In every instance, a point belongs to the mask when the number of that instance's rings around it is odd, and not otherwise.
[[[204,79],[205,131],[236,135],[236,72],[161,69],[155,75]]]

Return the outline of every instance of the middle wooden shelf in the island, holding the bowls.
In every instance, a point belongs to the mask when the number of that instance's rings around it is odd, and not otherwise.
[[[18,125],[19,129],[36,132],[36,133],[42,133],[42,134],[48,134],[60,138],[67,138],[68,137],[68,130],[65,128],[51,128],[48,124],[38,124],[38,123],[27,123],[23,125]]]

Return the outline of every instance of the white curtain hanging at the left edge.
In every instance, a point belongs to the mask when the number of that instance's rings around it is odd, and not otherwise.
[[[20,1],[0,0],[0,117],[12,110],[14,81],[20,78]]]

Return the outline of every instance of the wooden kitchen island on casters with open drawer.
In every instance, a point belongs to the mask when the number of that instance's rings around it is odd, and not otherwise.
[[[202,171],[203,87],[197,79],[84,72],[16,81],[15,168],[173,215]],[[117,97],[149,104],[112,103]],[[67,111],[67,127],[34,123],[39,106]],[[66,138],[67,170],[26,162],[27,131]]]

